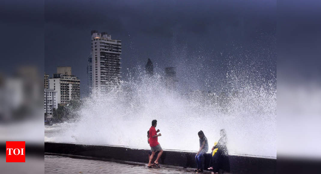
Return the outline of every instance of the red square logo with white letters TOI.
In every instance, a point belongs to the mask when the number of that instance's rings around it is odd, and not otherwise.
[[[25,146],[25,141],[6,141],[5,162],[26,162]]]

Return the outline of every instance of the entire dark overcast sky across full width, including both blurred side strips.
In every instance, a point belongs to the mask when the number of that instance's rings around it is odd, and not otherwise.
[[[213,90],[233,68],[271,78],[278,55],[285,79],[319,80],[320,5],[316,0],[4,0],[0,73],[33,65],[52,75],[57,66],[72,66],[83,94],[95,29],[122,40],[124,78],[127,68],[151,58],[159,72],[178,67],[182,86]]]

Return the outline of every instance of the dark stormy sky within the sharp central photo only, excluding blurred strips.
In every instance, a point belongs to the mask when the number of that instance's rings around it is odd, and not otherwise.
[[[217,82],[226,73],[227,59],[263,61],[274,70],[275,16],[276,1],[46,1],[46,72],[72,66],[83,92],[93,29],[122,40],[123,77],[147,58],[159,70],[177,66],[178,75],[194,72],[182,77],[186,84],[193,78]],[[259,62],[263,47],[271,58]],[[243,52],[252,58],[242,60]]]

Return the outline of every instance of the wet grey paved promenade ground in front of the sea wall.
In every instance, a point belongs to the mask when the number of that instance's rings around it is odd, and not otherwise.
[[[45,155],[45,173],[195,173],[194,169],[162,167],[148,169],[147,166],[121,164],[87,159],[76,159],[57,155]],[[204,171],[204,173],[210,173]]]

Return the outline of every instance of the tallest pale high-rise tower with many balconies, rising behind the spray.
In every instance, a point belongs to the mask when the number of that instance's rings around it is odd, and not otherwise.
[[[91,69],[87,69],[92,89],[104,91],[109,82],[121,78],[120,54],[120,40],[112,40],[106,32],[91,31],[91,56],[88,58],[88,67],[91,66]]]

